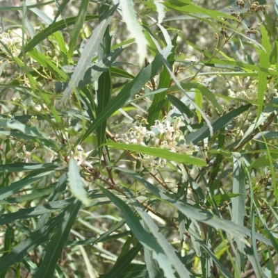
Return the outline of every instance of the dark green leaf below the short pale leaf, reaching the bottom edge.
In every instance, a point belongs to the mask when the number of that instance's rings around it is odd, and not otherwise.
[[[49,278],[54,276],[57,261],[62,256],[64,245],[67,242],[70,229],[72,229],[72,225],[74,224],[80,206],[81,202],[78,199],[75,199],[75,201],[65,209],[63,220],[58,225],[56,233],[47,245],[44,259],[33,277]]]

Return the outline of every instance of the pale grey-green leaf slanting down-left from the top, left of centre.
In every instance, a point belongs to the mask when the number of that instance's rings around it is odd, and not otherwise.
[[[72,90],[79,84],[79,81],[83,79],[85,71],[88,69],[88,67],[90,67],[92,57],[97,52],[99,44],[101,43],[104,36],[104,32],[106,31],[106,28],[110,23],[111,17],[116,9],[117,5],[111,8],[111,10],[109,10],[109,12],[106,14],[106,20],[102,20],[97,28],[95,28],[95,30],[92,32],[91,38],[86,43],[81,57],[74,68],[74,73],[71,76],[70,82],[63,92],[62,102],[65,102],[65,100],[70,97]]]

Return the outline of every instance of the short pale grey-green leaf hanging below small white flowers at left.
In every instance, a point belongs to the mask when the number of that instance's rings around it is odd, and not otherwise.
[[[70,186],[70,191],[72,194],[79,199],[83,204],[89,205],[90,199],[88,197],[88,192],[84,188],[83,181],[79,174],[79,169],[74,158],[70,158],[69,172],[67,172],[68,184]]]

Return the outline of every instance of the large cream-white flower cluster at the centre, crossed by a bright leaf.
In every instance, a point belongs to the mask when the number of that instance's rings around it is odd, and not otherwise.
[[[139,126],[134,126],[129,129],[119,141],[125,142],[126,144],[138,144],[142,146],[146,146],[148,142],[148,147],[169,149],[171,152],[181,154],[193,154],[195,152],[193,144],[186,144],[184,134],[179,129],[181,125],[180,117],[175,117],[170,120],[165,117],[162,122],[156,120],[154,126],[151,126],[150,131],[147,130],[146,126],[142,126],[143,123],[141,122]],[[141,163],[140,170],[143,168],[152,170],[166,165],[165,159],[146,154],[140,154],[138,160]]]

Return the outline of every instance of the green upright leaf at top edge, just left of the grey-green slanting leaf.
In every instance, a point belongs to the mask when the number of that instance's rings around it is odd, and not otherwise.
[[[76,16],[76,22],[74,23],[74,28],[70,33],[70,43],[69,50],[67,52],[69,60],[72,60],[72,54],[74,52],[74,47],[76,47],[76,42],[79,37],[81,28],[83,28],[83,24],[85,22],[85,15],[88,10],[88,4],[90,0],[82,0],[79,6],[79,13]]]

